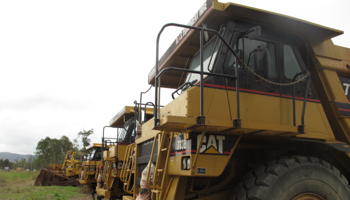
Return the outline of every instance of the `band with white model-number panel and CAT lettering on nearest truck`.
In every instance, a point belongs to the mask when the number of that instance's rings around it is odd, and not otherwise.
[[[238,136],[205,134],[202,144],[200,144],[201,133],[190,133],[190,138],[186,140],[184,135],[173,139],[170,155],[195,154],[199,148],[200,154],[230,155],[231,149],[235,145]]]

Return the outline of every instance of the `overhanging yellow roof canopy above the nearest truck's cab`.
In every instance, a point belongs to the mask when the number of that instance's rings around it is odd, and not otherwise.
[[[229,19],[240,19],[261,25],[278,27],[281,30],[303,35],[313,43],[322,42],[343,34],[343,31],[321,26],[266,10],[252,8],[235,3],[220,3],[217,0],[206,0],[195,13],[188,25],[202,26],[219,30],[221,24]],[[159,60],[159,71],[169,67],[185,68],[189,66],[192,56],[199,50],[198,31],[184,29]],[[161,87],[177,88],[183,82],[182,72],[165,73],[161,78]],[[154,85],[155,67],[148,74],[148,82]]]

